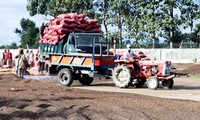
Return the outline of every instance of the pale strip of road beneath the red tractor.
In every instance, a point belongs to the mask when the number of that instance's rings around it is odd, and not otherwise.
[[[144,85],[142,88],[137,89],[133,87],[120,89],[115,87],[111,80],[92,84],[89,87],[74,85],[73,88],[107,92],[134,93],[160,98],[200,101],[200,78],[175,78],[174,87],[170,90],[163,89],[162,85],[160,85],[157,90],[149,90],[146,85]]]

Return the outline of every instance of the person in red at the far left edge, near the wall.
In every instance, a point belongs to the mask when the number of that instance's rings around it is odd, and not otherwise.
[[[9,49],[5,49],[3,52],[2,66],[6,65],[7,68],[12,67],[12,53]]]

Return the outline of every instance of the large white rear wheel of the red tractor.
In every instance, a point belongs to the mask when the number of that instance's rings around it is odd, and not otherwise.
[[[131,81],[131,70],[127,66],[117,66],[112,72],[112,79],[117,87],[128,87]]]

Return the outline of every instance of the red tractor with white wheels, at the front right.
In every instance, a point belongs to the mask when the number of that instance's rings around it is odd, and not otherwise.
[[[159,82],[165,89],[174,85],[175,75],[170,74],[170,61],[154,61],[147,58],[143,52],[134,53],[134,61],[127,63],[123,55],[115,60],[116,67],[112,72],[112,79],[117,87],[126,88],[130,85],[139,88],[147,83],[149,89],[157,89]]]

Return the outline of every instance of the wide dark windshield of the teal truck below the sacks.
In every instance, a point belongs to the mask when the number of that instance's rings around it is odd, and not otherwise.
[[[95,42],[95,43],[93,43]],[[101,44],[100,43],[104,43]],[[107,45],[105,44],[105,39],[102,35],[76,35],[76,48],[78,52],[83,53],[92,53],[93,52],[93,44],[95,45],[95,53],[100,53],[100,47],[102,53],[107,49]]]

